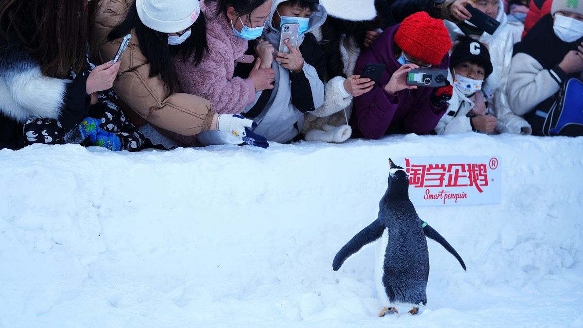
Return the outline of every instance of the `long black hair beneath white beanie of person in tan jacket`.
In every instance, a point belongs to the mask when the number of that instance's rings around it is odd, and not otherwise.
[[[140,43],[140,50],[150,65],[150,78],[160,75],[170,92],[174,92],[174,81],[176,79],[174,65],[170,56],[181,54],[184,62],[193,57],[193,64],[198,66],[202,61],[203,55],[209,51],[209,45],[206,41],[206,19],[202,12],[189,27],[191,35],[188,39],[178,46],[170,46],[168,44],[168,33],[154,31],[142,23],[134,2],[129,8],[128,16],[109,33],[107,39],[109,41],[120,39],[134,28]]]

